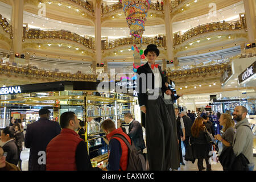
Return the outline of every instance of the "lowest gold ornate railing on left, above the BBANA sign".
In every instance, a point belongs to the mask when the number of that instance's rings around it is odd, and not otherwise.
[[[0,74],[12,75],[16,77],[27,77],[27,78],[39,78],[49,79],[56,81],[63,80],[77,80],[77,81],[96,81],[97,75],[93,74],[82,74],[82,73],[64,73],[64,72],[53,72],[45,71],[42,69],[33,69],[31,65],[27,67],[18,67],[9,64],[0,64]]]

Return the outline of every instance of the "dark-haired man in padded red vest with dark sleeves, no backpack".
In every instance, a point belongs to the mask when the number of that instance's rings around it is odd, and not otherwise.
[[[61,133],[49,142],[46,148],[47,171],[98,171],[90,163],[87,146],[79,137],[79,119],[68,111],[60,116]]]

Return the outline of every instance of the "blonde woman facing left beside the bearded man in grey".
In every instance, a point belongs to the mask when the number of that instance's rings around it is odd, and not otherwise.
[[[222,134],[222,137],[220,134],[217,134],[214,135],[214,138],[222,142],[223,151],[225,147],[230,147],[233,144],[235,123],[230,114],[221,114],[219,121],[220,125],[223,126],[222,131],[224,133]]]

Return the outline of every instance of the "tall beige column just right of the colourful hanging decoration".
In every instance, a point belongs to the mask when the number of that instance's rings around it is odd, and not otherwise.
[[[170,4],[168,0],[164,0],[164,22],[166,23],[166,46],[168,53],[168,60],[174,60],[174,53],[172,52],[174,46],[174,38],[172,35],[172,19],[170,17]]]

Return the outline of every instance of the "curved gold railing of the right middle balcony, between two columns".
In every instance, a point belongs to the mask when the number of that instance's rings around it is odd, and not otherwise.
[[[174,45],[177,46],[193,36],[201,35],[207,32],[240,30],[242,28],[246,28],[245,24],[246,23],[241,23],[240,20],[236,22],[214,22],[203,24],[188,30],[181,36],[174,34]]]

